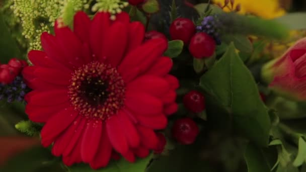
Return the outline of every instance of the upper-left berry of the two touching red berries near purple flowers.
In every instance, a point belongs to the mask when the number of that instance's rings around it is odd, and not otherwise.
[[[187,18],[177,18],[170,26],[171,39],[182,40],[186,45],[195,34],[195,31],[194,23]]]

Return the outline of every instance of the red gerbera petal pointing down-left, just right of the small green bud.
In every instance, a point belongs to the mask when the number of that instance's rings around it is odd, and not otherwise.
[[[64,109],[53,115],[41,130],[41,143],[44,147],[49,146],[54,139],[65,130],[78,116],[72,107]]]

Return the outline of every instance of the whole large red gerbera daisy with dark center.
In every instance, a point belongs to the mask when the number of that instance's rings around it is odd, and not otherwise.
[[[55,36],[41,35],[44,51],[30,51],[33,66],[23,71],[33,89],[26,113],[45,123],[42,144],[53,143],[66,165],[104,167],[112,152],[130,162],[145,157],[158,146],[154,130],[177,110],[179,83],[168,74],[172,60],[162,56],[167,41],[143,43],[143,25],[126,13],[109,18],[97,13],[91,21],[79,12],[73,31],[55,24]]]

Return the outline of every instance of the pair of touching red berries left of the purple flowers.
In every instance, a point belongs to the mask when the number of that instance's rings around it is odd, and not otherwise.
[[[194,23],[187,18],[177,18],[170,26],[170,36],[173,40],[182,40],[189,44],[189,51],[195,58],[207,58],[213,55],[216,42],[211,35],[198,32]]]

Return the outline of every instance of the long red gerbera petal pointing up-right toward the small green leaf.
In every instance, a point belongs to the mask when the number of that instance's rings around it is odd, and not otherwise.
[[[141,72],[160,57],[167,49],[168,43],[164,39],[152,39],[138,46],[127,54],[119,65],[119,72],[124,73],[134,67],[140,67]]]

